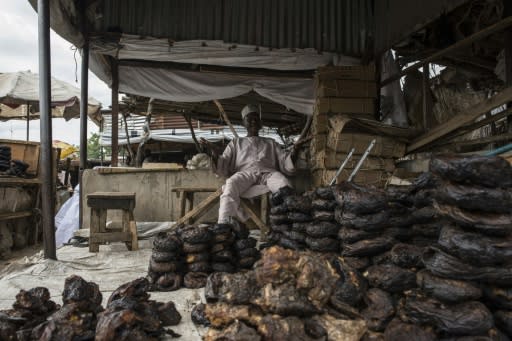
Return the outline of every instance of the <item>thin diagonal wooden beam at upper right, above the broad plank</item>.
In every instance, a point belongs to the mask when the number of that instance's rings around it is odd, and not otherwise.
[[[394,81],[402,78],[402,76],[405,76],[406,74],[408,74],[411,71],[417,70],[418,68],[422,67],[425,64],[434,62],[441,57],[444,57],[462,47],[470,45],[470,44],[474,43],[475,41],[483,39],[483,38],[487,37],[488,35],[491,35],[495,32],[501,31],[509,26],[512,26],[512,16],[507,17],[501,21],[498,21],[496,24],[486,27],[483,30],[470,35],[469,37],[459,40],[455,44],[453,44],[439,52],[432,54],[430,57],[427,57],[427,58],[417,62],[414,65],[406,67],[405,69],[403,69],[401,72],[397,73],[396,75],[391,76],[391,77],[387,78],[386,80],[384,80],[381,83],[381,86],[383,87],[391,82],[394,82]]]

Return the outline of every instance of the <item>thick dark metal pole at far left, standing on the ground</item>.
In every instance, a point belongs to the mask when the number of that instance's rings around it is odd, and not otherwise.
[[[57,259],[55,249],[55,179],[53,177],[51,63],[50,63],[50,1],[37,2],[39,41],[39,110],[41,138],[41,208],[44,257]]]

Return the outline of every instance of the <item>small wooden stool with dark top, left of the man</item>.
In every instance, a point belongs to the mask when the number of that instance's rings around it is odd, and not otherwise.
[[[125,242],[128,250],[139,249],[137,224],[133,217],[135,193],[94,192],[87,195],[87,206],[91,208],[89,252],[98,252],[100,244],[107,242]],[[107,229],[107,210],[123,211],[121,228]]]

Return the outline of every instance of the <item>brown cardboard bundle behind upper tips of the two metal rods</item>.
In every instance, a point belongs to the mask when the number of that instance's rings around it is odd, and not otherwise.
[[[330,130],[327,135],[327,147],[338,153],[348,153],[355,148],[355,153],[363,154],[372,140],[376,140],[370,156],[399,158],[405,154],[405,144],[388,137],[369,134],[337,133]]]

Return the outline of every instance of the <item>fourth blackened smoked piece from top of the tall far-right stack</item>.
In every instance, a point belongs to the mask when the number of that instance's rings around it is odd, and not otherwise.
[[[512,259],[512,237],[488,237],[466,232],[455,226],[445,226],[439,235],[439,245],[446,252],[478,266],[501,264]]]

